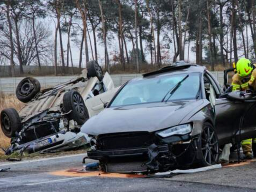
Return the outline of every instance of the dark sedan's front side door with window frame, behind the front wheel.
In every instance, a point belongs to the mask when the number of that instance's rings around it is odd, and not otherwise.
[[[208,81],[215,90],[215,129],[218,135],[219,144],[229,143],[238,129],[240,116],[243,113],[244,106],[242,103],[233,102],[228,98],[220,98],[221,89],[217,84],[217,80],[211,75],[206,73],[204,79],[204,81]]]

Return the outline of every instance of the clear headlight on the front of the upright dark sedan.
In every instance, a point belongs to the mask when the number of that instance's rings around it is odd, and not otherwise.
[[[185,125],[178,125],[171,127],[169,129],[165,129],[162,132],[158,132],[157,134],[161,137],[169,137],[174,134],[183,135],[183,134],[189,134],[192,131],[191,124],[185,124]]]

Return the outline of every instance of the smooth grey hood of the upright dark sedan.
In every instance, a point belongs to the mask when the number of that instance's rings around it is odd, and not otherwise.
[[[122,132],[155,132],[178,125],[192,111],[199,109],[202,100],[150,103],[107,108],[91,117],[82,132],[91,135]]]

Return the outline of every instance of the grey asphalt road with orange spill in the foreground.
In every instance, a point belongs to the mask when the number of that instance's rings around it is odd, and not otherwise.
[[[0,192],[256,192],[256,161],[168,179],[88,175],[80,172],[84,154],[1,162]],[[76,170],[76,171],[74,171]]]

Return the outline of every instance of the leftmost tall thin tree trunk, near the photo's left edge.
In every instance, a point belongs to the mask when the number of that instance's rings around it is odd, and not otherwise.
[[[8,26],[9,26],[9,33],[10,33],[10,72],[11,76],[15,76],[15,70],[14,70],[14,61],[13,61],[13,56],[14,56],[14,45],[13,45],[13,37],[12,37],[12,24],[10,20],[10,11],[9,11],[9,0],[7,1],[7,10],[6,10],[6,17],[8,21]]]

